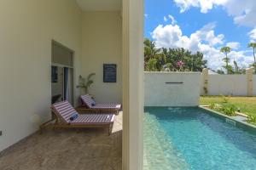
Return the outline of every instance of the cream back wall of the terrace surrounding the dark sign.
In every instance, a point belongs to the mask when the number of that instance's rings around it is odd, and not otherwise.
[[[84,12],[82,76],[95,72],[89,93],[97,102],[122,101],[122,20],[120,12]],[[117,64],[117,83],[103,82],[103,64]]]

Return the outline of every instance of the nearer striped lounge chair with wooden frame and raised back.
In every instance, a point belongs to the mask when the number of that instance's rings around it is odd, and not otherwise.
[[[108,134],[112,133],[114,114],[79,114],[67,101],[51,105],[51,110],[56,120],[54,123],[44,123],[41,130],[46,127],[106,127]],[[73,115],[76,117],[71,119]]]

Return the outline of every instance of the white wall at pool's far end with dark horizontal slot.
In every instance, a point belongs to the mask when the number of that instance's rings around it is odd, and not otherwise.
[[[145,72],[145,106],[195,106],[199,104],[200,89],[199,72]]]

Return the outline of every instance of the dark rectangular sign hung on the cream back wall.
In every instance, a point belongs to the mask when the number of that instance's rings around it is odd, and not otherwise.
[[[103,82],[116,82],[116,64],[103,65]]]

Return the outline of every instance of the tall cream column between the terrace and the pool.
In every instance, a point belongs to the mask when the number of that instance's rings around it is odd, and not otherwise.
[[[123,0],[123,170],[143,169],[143,0]]]

